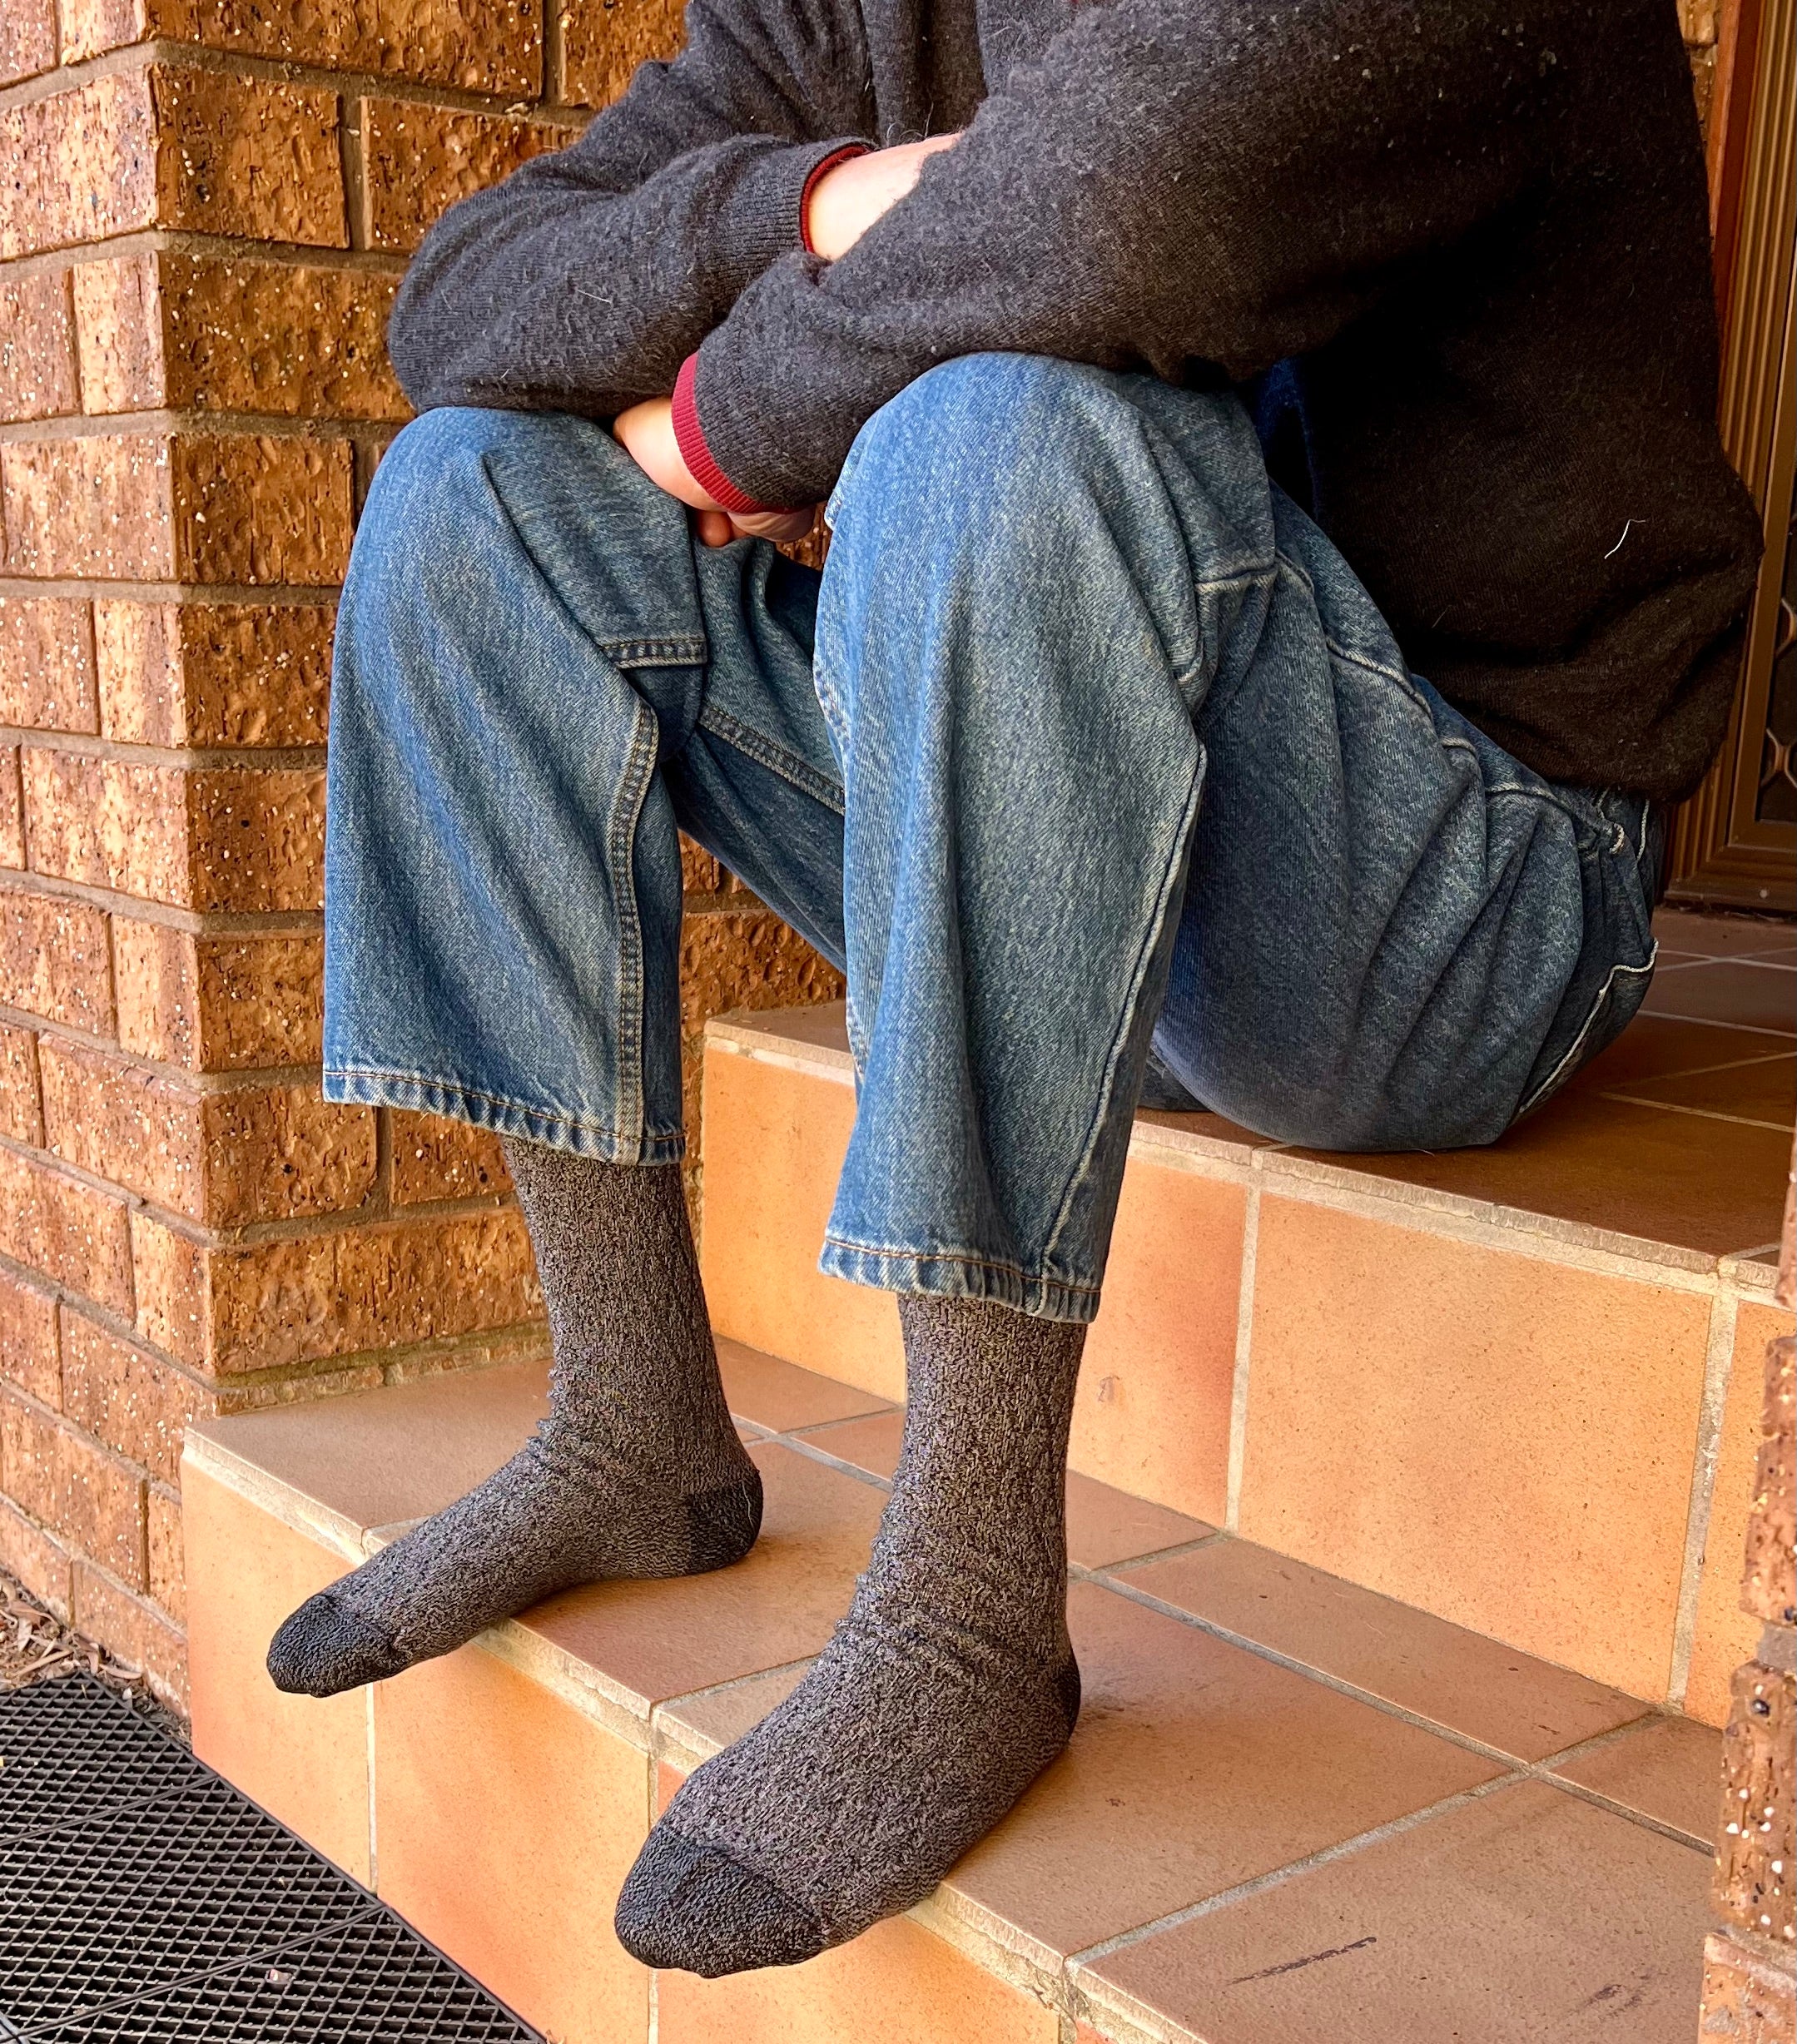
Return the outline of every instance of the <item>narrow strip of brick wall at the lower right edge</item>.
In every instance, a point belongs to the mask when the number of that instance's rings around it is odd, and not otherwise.
[[[1797,1183],[1793,1183],[1797,1194]],[[1797,1220],[1785,1206],[1779,1304],[1797,1306]],[[1723,1733],[1721,1817],[1703,1950],[1701,2040],[1789,2044],[1797,2034],[1797,1341],[1766,1347],[1766,1396],[1742,1611],[1760,1652],[1736,1670]]]

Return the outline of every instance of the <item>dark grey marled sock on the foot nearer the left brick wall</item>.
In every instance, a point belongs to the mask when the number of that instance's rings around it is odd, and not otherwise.
[[[448,1654],[554,1590],[738,1562],[761,1472],[718,1382],[675,1165],[505,1143],[550,1314],[550,1414],[466,1498],[301,1605],[278,1688],[331,1697]]]

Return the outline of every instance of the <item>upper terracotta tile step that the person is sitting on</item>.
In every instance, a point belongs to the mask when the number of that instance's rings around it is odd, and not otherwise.
[[[1683,912],[1662,942],[1664,1012],[1486,1151],[1321,1157],[1141,1114],[1073,1468],[1721,1723],[1789,1322],[1797,944]],[[716,1325],[895,1400],[891,1298],[816,1267],[853,1118],[840,1008],[709,1024]],[[889,1435],[838,1451],[879,1468]]]

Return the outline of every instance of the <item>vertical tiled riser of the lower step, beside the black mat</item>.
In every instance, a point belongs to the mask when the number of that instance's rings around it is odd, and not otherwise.
[[[194,1752],[556,2044],[1057,2044],[1053,2009],[906,1919],[808,1966],[650,1975],[611,1909],[691,1754],[652,1756],[480,1645],[374,1690],[276,1694],[270,1633],[350,1555],[192,1461],[182,1492]]]

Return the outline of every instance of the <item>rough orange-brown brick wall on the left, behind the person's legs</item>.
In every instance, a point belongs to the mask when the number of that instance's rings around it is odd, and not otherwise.
[[[319,1098],[331,603],[407,251],[677,35],[0,0],[0,1566],[176,1701],[188,1419],[542,1343],[497,1145]],[[687,881],[697,1130],[705,1016],[836,981]]]

